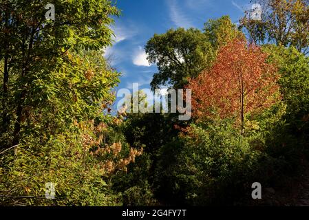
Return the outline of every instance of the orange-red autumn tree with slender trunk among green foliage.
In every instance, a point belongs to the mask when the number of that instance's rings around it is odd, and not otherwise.
[[[222,47],[210,70],[189,80],[196,118],[237,117],[244,126],[247,113],[270,107],[279,98],[277,69],[255,45],[237,39]]]

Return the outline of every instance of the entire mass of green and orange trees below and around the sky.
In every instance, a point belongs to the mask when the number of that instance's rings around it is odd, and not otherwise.
[[[309,2],[258,2],[260,20],[223,16],[145,45],[153,91],[192,91],[180,121],[114,112],[114,1],[55,0],[46,19],[47,0],[0,0],[0,205],[247,205],[254,182],[289,186],[309,159]]]

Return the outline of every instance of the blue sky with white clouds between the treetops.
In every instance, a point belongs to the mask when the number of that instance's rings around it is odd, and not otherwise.
[[[122,73],[117,89],[149,88],[156,65],[149,65],[144,46],[153,34],[170,28],[199,28],[209,19],[229,15],[234,23],[251,8],[249,0],[118,0],[122,16],[116,18],[114,45],[105,56]]]

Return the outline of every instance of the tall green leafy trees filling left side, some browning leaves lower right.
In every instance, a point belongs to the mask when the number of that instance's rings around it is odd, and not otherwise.
[[[112,206],[110,179],[142,149],[131,148],[108,113],[118,72],[110,45],[118,10],[110,1],[2,1],[0,203]],[[45,184],[56,199],[45,199]]]

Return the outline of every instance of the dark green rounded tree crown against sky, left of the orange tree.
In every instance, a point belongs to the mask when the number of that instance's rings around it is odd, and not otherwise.
[[[148,60],[156,63],[151,88],[169,85],[182,88],[189,77],[198,76],[213,61],[213,48],[200,30],[178,28],[155,34],[145,46]]]

